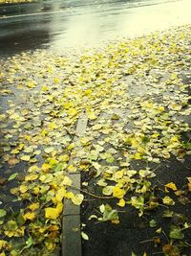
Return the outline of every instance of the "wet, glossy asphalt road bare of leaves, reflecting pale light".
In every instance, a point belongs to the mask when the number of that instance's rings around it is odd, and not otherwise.
[[[191,23],[190,0],[63,0],[0,7],[0,57],[93,46]]]

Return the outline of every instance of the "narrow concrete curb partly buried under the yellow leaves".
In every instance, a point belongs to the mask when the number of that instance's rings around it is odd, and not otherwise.
[[[88,118],[85,114],[79,116],[74,143],[82,137],[87,128]],[[77,147],[80,151],[80,147]],[[72,164],[73,158],[70,160]],[[73,180],[74,187],[80,188],[81,175],[79,172],[68,175]],[[69,191],[76,193],[74,189]],[[64,199],[64,210],[62,217],[62,256],[81,256],[81,231],[80,231],[80,205],[76,206],[70,199]]]

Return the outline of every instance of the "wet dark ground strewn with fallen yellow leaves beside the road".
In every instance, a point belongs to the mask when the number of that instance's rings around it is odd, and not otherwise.
[[[1,256],[59,255],[64,198],[82,205],[84,255],[93,225],[121,244],[100,255],[190,254],[190,32],[2,60]],[[76,139],[81,115],[88,126]],[[78,171],[73,193],[68,174]]]

